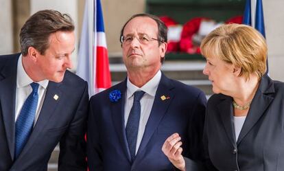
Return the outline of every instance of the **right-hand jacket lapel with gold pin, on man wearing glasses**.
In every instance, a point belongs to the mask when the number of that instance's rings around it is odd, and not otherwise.
[[[152,106],[152,110],[149,116],[149,119],[147,121],[147,124],[145,126],[145,131],[143,134],[143,138],[141,140],[141,144],[139,146],[139,150],[137,152],[137,158],[145,147],[147,146],[148,142],[150,141],[150,138],[152,137],[154,131],[156,131],[159,123],[161,122],[161,119],[167,112],[167,109],[169,107],[169,104],[171,104],[171,100],[174,99],[174,92],[171,91],[174,89],[174,86],[171,84],[169,78],[166,78],[165,75],[162,73],[161,81],[158,85],[158,89],[156,91],[154,104]],[[161,96],[165,95],[168,99],[162,100]],[[139,159],[136,159],[135,161],[139,161]]]

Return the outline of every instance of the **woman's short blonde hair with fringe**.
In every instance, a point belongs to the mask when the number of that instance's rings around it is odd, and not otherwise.
[[[242,24],[228,24],[217,27],[209,33],[201,45],[205,58],[217,57],[241,67],[239,76],[249,79],[250,73],[261,78],[266,71],[268,52],[265,38],[253,27]]]

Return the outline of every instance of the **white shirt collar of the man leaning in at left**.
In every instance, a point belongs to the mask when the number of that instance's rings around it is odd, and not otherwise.
[[[16,71],[16,87],[17,88],[25,87],[28,84],[31,84],[32,82],[34,82],[32,78],[29,78],[29,76],[27,76],[27,73],[25,72],[25,69],[23,68],[22,58],[23,56],[20,55],[19,60],[18,60],[18,65],[17,65],[17,71]],[[42,80],[37,83],[40,84],[40,86],[43,87],[44,89],[47,89],[48,82],[49,80]]]

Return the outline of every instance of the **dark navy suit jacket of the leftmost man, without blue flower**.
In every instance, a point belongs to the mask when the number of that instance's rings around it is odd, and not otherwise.
[[[88,86],[66,71],[47,86],[40,115],[19,157],[14,160],[16,69],[20,54],[0,56],[0,170],[47,170],[60,141],[58,170],[86,170],[85,141]],[[58,100],[54,99],[58,95]]]

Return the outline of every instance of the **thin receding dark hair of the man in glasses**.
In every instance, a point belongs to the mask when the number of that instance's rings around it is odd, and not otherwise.
[[[150,19],[153,19],[154,21],[156,21],[156,23],[158,25],[158,45],[161,45],[161,43],[167,43],[167,26],[165,25],[165,23],[163,21],[161,21],[161,19],[159,19],[158,16],[154,16],[152,14],[145,14],[145,13],[134,14],[130,17],[130,19],[128,19],[128,21],[126,21],[126,23],[123,25],[123,27],[121,29],[119,40],[120,40],[121,36],[123,36],[124,28],[129,23],[129,21],[131,21],[132,19],[137,18],[139,16],[149,17]]]

